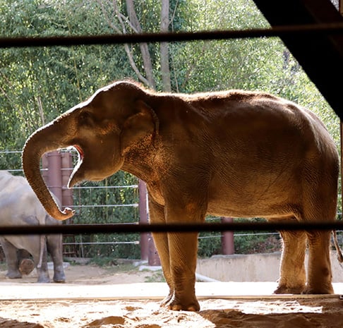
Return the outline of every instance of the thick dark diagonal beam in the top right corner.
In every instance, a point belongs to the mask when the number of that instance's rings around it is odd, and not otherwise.
[[[272,27],[343,23],[343,17],[330,0],[254,1]],[[284,35],[281,39],[342,120],[343,35]]]

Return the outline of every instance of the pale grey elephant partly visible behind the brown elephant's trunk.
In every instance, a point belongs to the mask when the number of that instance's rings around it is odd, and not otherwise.
[[[32,188],[23,176],[13,176],[8,171],[0,171],[0,225],[21,226],[38,224],[56,224],[38,200]],[[32,255],[37,269],[37,282],[50,282],[47,267],[47,252],[54,263],[54,282],[65,282],[62,235],[9,235],[0,236],[0,243],[6,256],[8,272],[6,277],[17,279],[25,272],[18,250],[27,250]],[[25,272],[28,274],[28,272]]]

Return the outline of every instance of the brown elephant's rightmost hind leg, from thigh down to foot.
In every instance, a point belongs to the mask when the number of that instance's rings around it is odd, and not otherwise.
[[[333,222],[337,215],[338,163],[327,160],[303,172],[303,220]],[[330,294],[331,231],[308,231],[307,286],[303,293]]]

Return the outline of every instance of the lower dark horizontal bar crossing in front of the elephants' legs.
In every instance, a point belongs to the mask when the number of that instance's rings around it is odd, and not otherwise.
[[[52,226],[0,226],[0,235],[25,234],[96,234],[96,233],[146,233],[195,231],[317,231],[343,229],[343,221],[301,223],[201,223],[201,224],[62,224]]]

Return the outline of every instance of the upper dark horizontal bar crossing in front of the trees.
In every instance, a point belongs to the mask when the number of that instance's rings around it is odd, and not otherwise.
[[[317,35],[318,33],[342,33],[342,23],[284,25],[273,28],[249,30],[215,30],[198,32],[137,33],[114,35],[83,35],[53,37],[1,37],[0,48],[51,47],[90,44],[126,44],[142,42],[186,42],[194,40],[227,40],[251,37],[280,37],[282,35]]]

